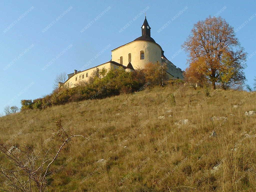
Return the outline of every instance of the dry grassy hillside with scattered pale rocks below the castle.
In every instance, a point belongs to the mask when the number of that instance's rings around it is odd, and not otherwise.
[[[244,115],[256,109],[255,96],[146,89],[4,116],[0,136],[11,145],[50,146],[62,115],[64,127],[90,139],[74,138],[62,151],[48,191],[255,191],[256,115]]]

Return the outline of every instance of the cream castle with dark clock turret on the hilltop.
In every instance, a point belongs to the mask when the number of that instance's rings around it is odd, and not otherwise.
[[[113,49],[111,51],[112,59],[110,61],[83,71],[74,70],[73,73],[68,74],[68,80],[64,84],[68,87],[73,87],[82,80],[89,80],[90,76],[93,76],[103,68],[109,70],[121,67],[125,71],[131,72],[138,68],[145,68],[145,65],[149,62],[166,63],[167,78],[183,79],[183,71],[173,65],[173,63],[164,56],[162,47],[151,37],[150,29],[145,16],[144,23],[141,26],[142,35],[140,37]]]

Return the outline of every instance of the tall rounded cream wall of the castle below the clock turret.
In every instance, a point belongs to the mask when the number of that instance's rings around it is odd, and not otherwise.
[[[140,51],[144,51],[145,59],[140,59]],[[159,45],[150,41],[132,41],[124,46],[112,50],[112,61],[120,63],[123,57],[123,65],[129,63],[128,54],[131,53],[131,64],[134,69],[144,68],[146,63],[157,61],[162,63],[162,49]]]

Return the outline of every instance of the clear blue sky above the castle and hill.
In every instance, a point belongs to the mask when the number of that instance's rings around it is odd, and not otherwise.
[[[0,113],[6,104],[20,107],[22,99],[51,93],[60,72],[69,74],[84,65],[90,68],[109,61],[112,49],[141,36],[144,12],[151,37],[161,45],[165,56],[183,70],[187,56],[180,46],[193,25],[209,15],[226,19],[238,29],[236,36],[248,52],[245,73],[247,83],[252,85],[256,70],[255,5],[255,0],[2,0]]]

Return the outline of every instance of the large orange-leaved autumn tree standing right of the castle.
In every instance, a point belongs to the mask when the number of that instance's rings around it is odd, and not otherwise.
[[[216,83],[226,88],[245,80],[243,69],[247,53],[225,19],[209,16],[197,22],[182,47],[188,53],[187,71],[202,72],[213,89]]]

